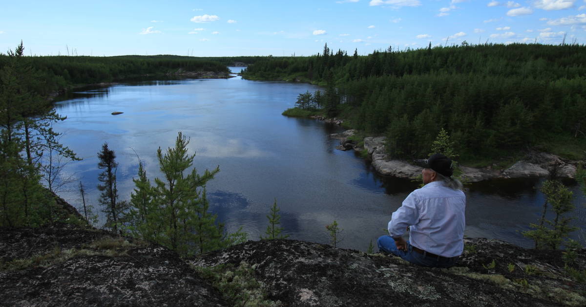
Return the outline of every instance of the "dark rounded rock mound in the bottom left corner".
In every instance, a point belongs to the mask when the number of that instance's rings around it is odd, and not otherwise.
[[[0,236],[1,306],[229,306],[156,244],[72,227],[20,232]]]

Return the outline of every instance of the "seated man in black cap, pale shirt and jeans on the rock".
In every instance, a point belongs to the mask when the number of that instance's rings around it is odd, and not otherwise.
[[[448,157],[434,154],[417,162],[425,185],[393,212],[390,235],[379,238],[379,250],[425,267],[451,267],[464,251],[466,196],[461,182],[451,178]],[[402,237],[406,229],[409,241]]]

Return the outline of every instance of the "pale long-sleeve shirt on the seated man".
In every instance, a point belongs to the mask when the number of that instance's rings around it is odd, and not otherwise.
[[[411,245],[443,257],[455,257],[464,251],[466,195],[444,187],[441,181],[416,189],[393,212],[389,234],[402,236],[410,226]]]

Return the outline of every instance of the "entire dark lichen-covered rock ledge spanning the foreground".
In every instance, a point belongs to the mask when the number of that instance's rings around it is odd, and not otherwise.
[[[188,264],[243,262],[252,265],[268,299],[282,306],[586,305],[586,287],[564,277],[561,251],[526,250],[499,240],[466,239],[461,262],[445,270],[296,240],[249,241],[182,260],[164,247],[129,238],[121,239],[122,246],[99,249],[96,242],[104,238],[117,239],[71,226],[0,229],[0,305],[229,306]],[[6,268],[8,261],[56,250],[71,257]],[[583,249],[577,263],[586,266]]]

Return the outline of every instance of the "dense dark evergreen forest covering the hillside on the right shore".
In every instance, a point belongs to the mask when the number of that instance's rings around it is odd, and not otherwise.
[[[530,147],[586,156],[584,45],[464,43],[349,56],[326,44],[311,57],[259,60],[244,77],[326,86],[306,107],[386,135],[396,158],[426,156],[442,127],[469,165]]]

